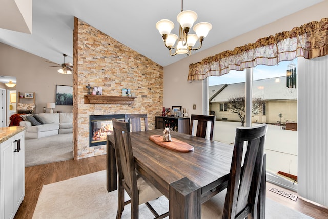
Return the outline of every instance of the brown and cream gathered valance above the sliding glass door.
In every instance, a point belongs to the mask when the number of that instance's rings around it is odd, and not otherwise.
[[[323,18],[190,64],[188,81],[221,76],[230,70],[240,71],[259,64],[276,65],[299,56],[306,59],[325,56],[327,45],[328,18]]]

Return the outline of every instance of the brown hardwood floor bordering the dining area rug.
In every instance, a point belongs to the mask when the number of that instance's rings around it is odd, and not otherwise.
[[[14,218],[32,218],[39,194],[44,184],[67,180],[69,178],[105,169],[106,155],[26,167],[25,198]],[[267,188],[270,188],[271,185],[273,184],[267,183]],[[275,185],[275,187],[278,186]],[[286,189],[283,190],[288,191]],[[295,192],[292,191],[288,192],[295,194]],[[328,218],[328,208],[313,204],[300,197],[295,202],[268,190],[267,197],[313,218]]]

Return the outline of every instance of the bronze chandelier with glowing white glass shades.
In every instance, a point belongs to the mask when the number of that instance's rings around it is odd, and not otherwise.
[[[188,34],[190,28],[197,19],[197,14],[194,11],[183,11],[183,0],[181,0],[181,12],[177,16],[179,22],[179,36],[171,33],[174,28],[174,23],[168,19],[162,19],[156,23],[156,29],[163,38],[164,45],[169,49],[170,55],[187,54],[191,55],[192,50],[198,50],[202,46],[204,37],[207,36],[212,29],[212,25],[208,22],[200,22],[196,24],[193,30],[196,34]],[[199,39],[199,47],[194,48]],[[178,40],[177,44],[175,42]],[[172,50],[175,52],[172,53]]]

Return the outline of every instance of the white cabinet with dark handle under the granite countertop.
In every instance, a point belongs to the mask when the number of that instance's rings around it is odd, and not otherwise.
[[[14,218],[25,195],[24,131],[0,143],[0,218]]]

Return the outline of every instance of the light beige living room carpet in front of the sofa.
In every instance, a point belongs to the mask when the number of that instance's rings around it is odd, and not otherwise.
[[[73,134],[25,139],[25,167],[73,159]]]

